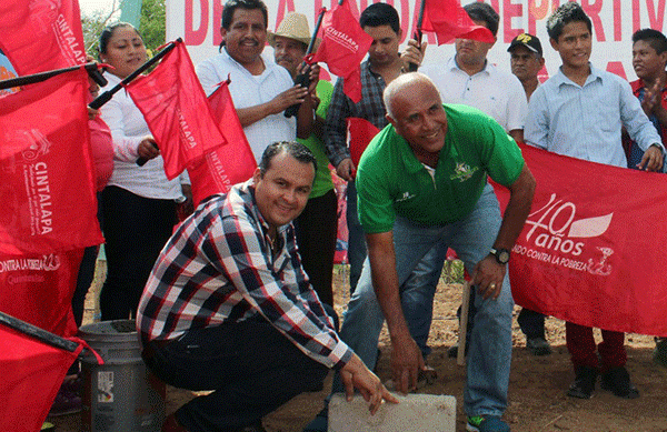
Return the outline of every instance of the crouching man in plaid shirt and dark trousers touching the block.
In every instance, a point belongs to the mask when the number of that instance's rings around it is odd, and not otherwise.
[[[163,431],[261,431],[263,415],[321,386],[330,368],[371,412],[397,402],[340,341],[301,268],[291,221],[315,169],[302,144],[269,145],[252,179],[203,202],[162,250],[139,304],[142,358],[171,385],[215,390]]]

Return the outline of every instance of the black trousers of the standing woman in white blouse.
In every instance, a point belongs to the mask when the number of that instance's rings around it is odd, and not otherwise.
[[[136,195],[122,188],[102,191],[107,280],[100,293],[102,321],[135,317],[148,275],[171,237],[176,202]]]

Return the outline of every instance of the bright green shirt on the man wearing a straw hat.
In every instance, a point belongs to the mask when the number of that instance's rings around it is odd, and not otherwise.
[[[317,83],[317,97],[320,99],[320,103],[317,107],[316,113],[322,119],[327,118],[327,111],[329,111],[329,103],[331,103],[331,94],[334,93],[334,86],[329,81],[320,80]],[[310,198],[318,198],[323,195],[334,189],[334,181],[331,180],[331,171],[329,171],[329,158],[325,152],[325,143],[321,139],[311,133],[307,139],[297,139],[300,143],[306,145],[315,159],[317,159],[317,171],[315,172],[315,182],[312,183],[312,190],[310,191]]]

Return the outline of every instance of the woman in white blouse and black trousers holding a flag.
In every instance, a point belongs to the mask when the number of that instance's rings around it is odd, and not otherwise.
[[[117,86],[148,60],[141,34],[129,23],[107,27],[99,39],[100,61],[111,66],[101,92]],[[100,110],[113,139],[113,172],[102,191],[107,280],[100,293],[102,320],[133,317],[160,250],[176,223],[176,203],[189,195],[189,180],[167,180],[163,160],[141,111],[117,92]],[[139,167],[139,158],[148,160]]]

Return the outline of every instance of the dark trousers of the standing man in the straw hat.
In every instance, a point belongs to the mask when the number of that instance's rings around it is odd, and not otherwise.
[[[303,270],[322,303],[334,305],[334,255],[338,233],[336,191],[309,199],[303,212],[295,220],[295,227]]]

